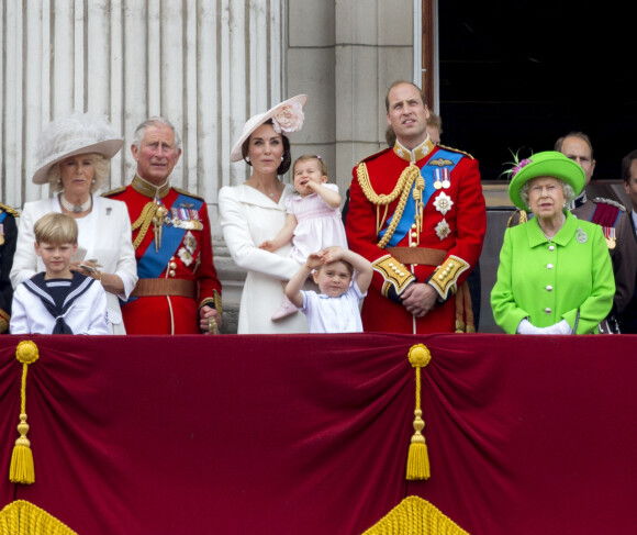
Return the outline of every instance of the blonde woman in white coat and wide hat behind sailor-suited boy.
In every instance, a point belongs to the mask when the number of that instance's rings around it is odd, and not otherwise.
[[[72,114],[51,122],[37,143],[34,183],[48,183],[55,194],[26,202],[20,218],[19,241],[11,269],[13,288],[44,270],[33,247],[34,223],[49,212],[74,218],[78,252],[71,269],[98,279],[107,291],[108,320],[113,334],[125,334],[120,299],[137,282],[131,220],[126,205],[93,193],[109,176],[110,159],[124,141],[105,118]]]

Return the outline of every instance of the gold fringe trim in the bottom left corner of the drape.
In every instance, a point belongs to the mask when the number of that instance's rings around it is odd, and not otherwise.
[[[0,511],[0,533],[11,535],[78,535],[55,516],[24,500]]]

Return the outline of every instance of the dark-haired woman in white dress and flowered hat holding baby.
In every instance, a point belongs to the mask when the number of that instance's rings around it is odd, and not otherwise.
[[[250,118],[235,144],[231,161],[244,159],[253,169],[239,186],[219,192],[223,237],[234,263],[247,271],[242,292],[238,334],[306,333],[305,315],[298,312],[273,322],[289,280],[299,265],[289,258],[290,244],[269,253],[259,245],[272,239],[286,223],[286,198],[292,188],[279,180],[292,157],[288,134],[303,125],[308,96],[299,94]]]

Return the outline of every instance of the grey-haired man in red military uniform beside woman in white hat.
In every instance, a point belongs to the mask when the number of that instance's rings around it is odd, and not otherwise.
[[[107,193],[128,207],[139,280],[122,306],[127,334],[216,333],[221,283],[212,257],[205,201],[170,187],[181,155],[175,127],[144,121],[131,146],[133,182]]]

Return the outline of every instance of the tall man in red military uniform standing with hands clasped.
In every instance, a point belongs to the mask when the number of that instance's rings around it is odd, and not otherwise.
[[[345,223],[349,248],[375,269],[364,328],[471,332],[463,282],[487,229],[478,163],[432,143],[429,112],[413,83],[393,83],[385,107],[396,143],[354,168]]]

